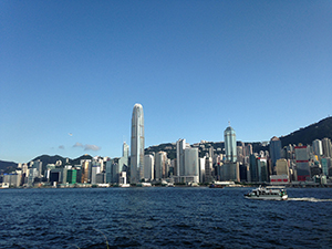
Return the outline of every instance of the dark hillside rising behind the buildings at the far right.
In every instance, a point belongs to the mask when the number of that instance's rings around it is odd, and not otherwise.
[[[282,146],[289,144],[312,144],[314,139],[323,139],[328,137],[332,139],[332,117],[326,117],[318,123],[300,128],[287,136],[281,136]]]

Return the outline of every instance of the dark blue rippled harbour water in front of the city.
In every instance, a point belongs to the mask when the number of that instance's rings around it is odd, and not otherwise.
[[[332,188],[0,189],[0,248],[332,248]]]

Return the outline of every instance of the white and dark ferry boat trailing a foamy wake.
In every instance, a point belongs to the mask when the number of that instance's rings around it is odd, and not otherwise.
[[[288,198],[284,187],[261,187],[253,189],[251,193],[245,195],[247,199],[271,199],[286,200]]]

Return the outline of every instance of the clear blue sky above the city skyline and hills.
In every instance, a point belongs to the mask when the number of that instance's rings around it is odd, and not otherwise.
[[[331,1],[0,1],[0,159],[262,142],[332,114]]]

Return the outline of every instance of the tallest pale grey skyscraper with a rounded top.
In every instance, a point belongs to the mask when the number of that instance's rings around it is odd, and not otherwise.
[[[132,116],[131,184],[144,178],[144,114],[141,104],[135,104]]]

